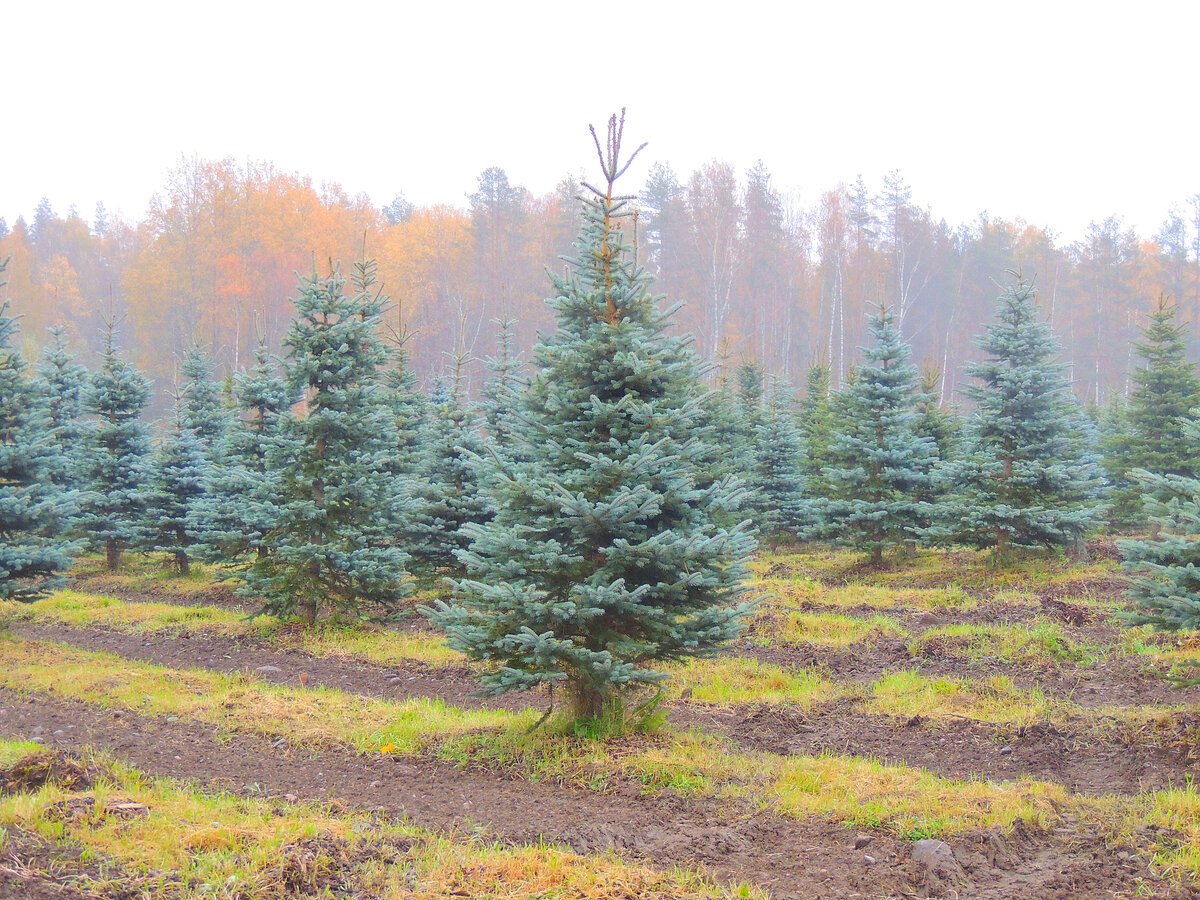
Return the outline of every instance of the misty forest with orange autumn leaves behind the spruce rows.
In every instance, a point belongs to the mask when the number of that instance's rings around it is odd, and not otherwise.
[[[192,343],[223,372],[246,366],[259,337],[277,347],[296,272],[348,265],[365,246],[396,304],[394,328],[413,335],[418,372],[436,374],[449,352],[464,350],[478,389],[494,319],[517,320],[518,348],[550,324],[546,268],[571,251],[580,191],[565,178],[534,196],[488,168],[461,204],[414,206],[401,194],[380,208],[269,163],[185,160],[139,222],[102,205],[89,221],[49,199],[29,221],[0,220],[0,258],[12,259],[7,293],[26,349],[65,323],[88,359],[113,310],[127,316],[126,342],[162,397]],[[690,174],[659,163],[638,203],[640,258],[658,289],[684,304],[678,325],[701,353],[755,358],[794,383],[821,360],[838,386],[866,313],[886,302],[916,359],[944,372],[943,401],[959,402],[962,365],[977,355],[1007,270],[1034,280],[1086,403],[1126,392],[1130,340],[1159,294],[1187,322],[1200,314],[1200,194],[1164,210],[1156,234],[1115,215],[1075,241],[985,212],[947,222],[900,173],[803,205],[762,163],[739,173],[710,162]]]

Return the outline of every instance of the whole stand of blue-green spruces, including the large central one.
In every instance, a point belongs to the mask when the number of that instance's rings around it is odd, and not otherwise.
[[[128,551],[181,572],[211,562],[265,612],[308,624],[386,617],[449,580],[422,608],[493,664],[487,688],[560,688],[596,718],[660,682],[662,661],[739,632],[758,541],[851,545],[874,565],[918,545],[1003,562],[1081,554],[1105,520],[1138,527],[1148,510],[1152,533],[1122,545],[1139,620],[1196,624],[1200,377],[1174,304],[1156,307],[1135,388],[1100,421],[1020,278],[978,336],[970,413],[938,402],[888,305],[866,319],[862,362],[840,385],[811,366],[797,403],[758,362],[709,371],[652,293],[638,208],[614,190],[623,128],[614,116],[596,140],[600,186],[581,185],[553,330],[527,364],[502,319],[480,401],[464,353],[422,390],[370,259],[300,280],[281,358],[260,341],[221,380],[188,348],[157,438],[116,317],[92,371],[60,329],[30,368],[0,310],[0,596],[44,595],[85,550],[112,568]]]

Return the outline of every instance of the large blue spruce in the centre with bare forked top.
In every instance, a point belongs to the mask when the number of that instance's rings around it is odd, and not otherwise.
[[[734,637],[754,548],[714,522],[737,488],[698,484],[706,391],[624,240],[622,130],[613,116],[607,149],[596,140],[605,190],[589,188],[577,259],[554,278],[558,328],[520,408],[528,462],[496,475],[496,517],[464,529],[468,576],[427,611],[452,647],[496,664],[492,691],[560,685],[584,718],[662,680],[655,664]]]

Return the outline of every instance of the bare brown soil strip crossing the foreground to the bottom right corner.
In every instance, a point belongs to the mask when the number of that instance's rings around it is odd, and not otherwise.
[[[94,745],[154,775],[215,787],[344,803],[407,816],[433,829],[474,829],[504,841],[548,840],[578,852],[616,850],[658,866],[700,866],[786,898],[920,896],[925,875],[911,845],[882,832],[798,822],[708,802],[607,793],[462,770],[434,760],[272,749],[188,722],[104,712],[0,691],[0,734],[37,730],[52,744]],[[289,797],[290,796],[290,797]],[[1052,834],[996,830],[950,841],[961,896],[1186,896],[1129,852],[1067,823]],[[1139,888],[1140,886],[1140,888]]]

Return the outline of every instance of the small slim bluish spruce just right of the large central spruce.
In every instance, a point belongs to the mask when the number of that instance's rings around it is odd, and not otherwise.
[[[792,409],[792,389],[773,379],[755,434],[750,488],[758,498],[755,524],[772,542],[798,538],[806,526],[804,451]]]

